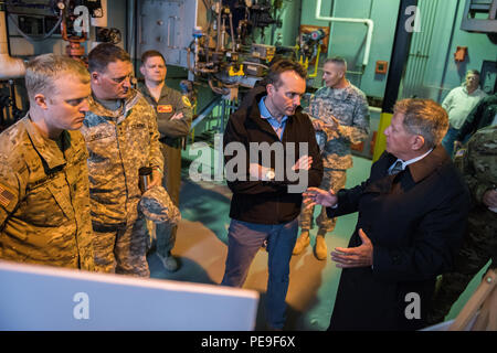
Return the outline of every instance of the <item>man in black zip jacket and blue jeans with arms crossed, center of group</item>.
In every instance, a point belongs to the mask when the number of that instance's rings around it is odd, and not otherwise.
[[[276,330],[285,323],[302,193],[318,186],[322,178],[315,131],[299,108],[305,77],[297,63],[275,63],[266,85],[254,88],[248,95],[252,101],[231,116],[223,138],[233,197],[222,285],[242,287],[255,254],[266,243],[266,321],[268,329]]]

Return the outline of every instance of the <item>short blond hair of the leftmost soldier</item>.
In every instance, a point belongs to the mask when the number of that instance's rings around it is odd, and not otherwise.
[[[78,61],[68,56],[43,54],[32,58],[25,66],[25,88],[31,101],[36,94],[55,95],[55,81],[72,76],[89,84],[89,73]]]

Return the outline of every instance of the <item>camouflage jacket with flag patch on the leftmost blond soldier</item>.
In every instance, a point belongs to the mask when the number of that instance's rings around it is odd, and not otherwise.
[[[29,116],[0,135],[0,258],[94,270],[87,156],[80,131],[59,146]]]

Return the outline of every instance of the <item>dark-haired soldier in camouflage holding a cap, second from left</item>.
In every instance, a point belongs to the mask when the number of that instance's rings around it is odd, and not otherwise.
[[[120,47],[97,45],[88,55],[88,69],[93,96],[82,132],[89,151],[95,265],[105,272],[149,277],[138,170],[152,168],[148,188],[160,184],[163,159],[156,114],[131,88],[131,61]]]

